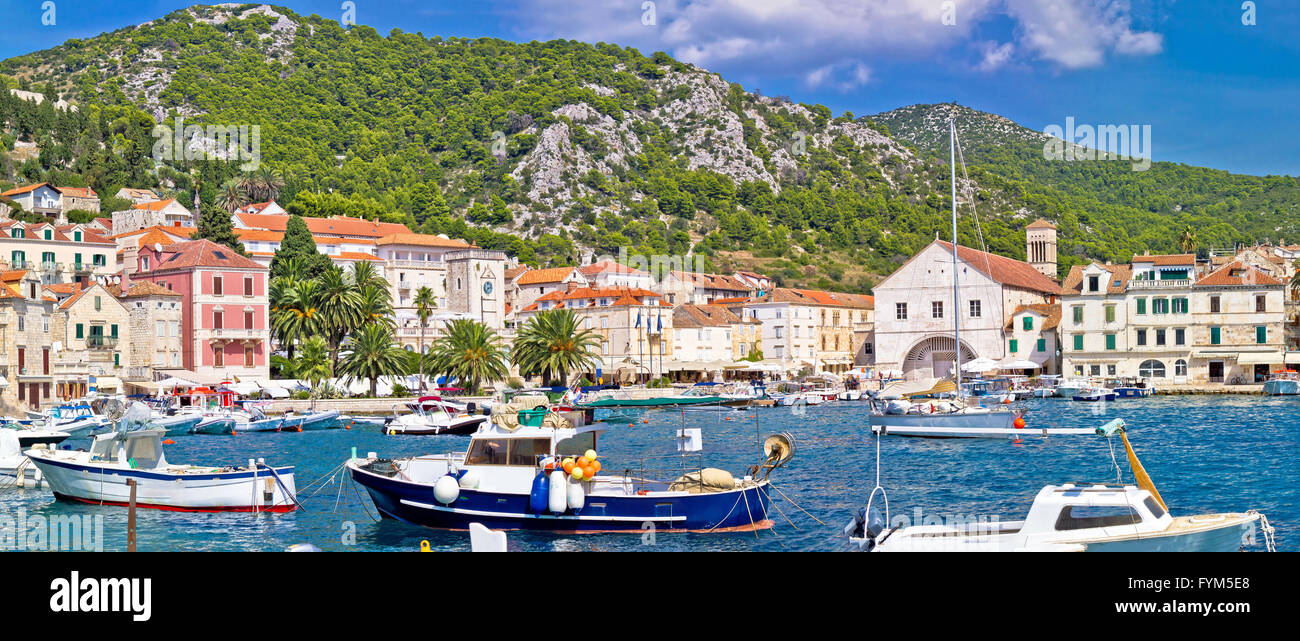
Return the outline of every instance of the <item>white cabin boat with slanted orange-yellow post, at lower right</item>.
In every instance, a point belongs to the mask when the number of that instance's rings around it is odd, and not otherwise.
[[[1260,529],[1265,547],[1274,550],[1273,527],[1254,510],[1173,516],[1134,454],[1123,420],[1096,433],[1121,436],[1136,485],[1048,485],[1018,521],[890,529],[888,514],[881,517],[868,504],[845,532],[859,550],[871,551],[1235,551]]]

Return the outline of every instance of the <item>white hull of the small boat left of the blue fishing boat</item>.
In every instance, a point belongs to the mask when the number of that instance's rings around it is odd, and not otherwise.
[[[147,469],[127,469],[32,455],[55,497],[82,503],[126,506],[129,480],[136,482],[135,506],[183,512],[289,512],[296,508],[291,497],[294,468],[177,475]],[[283,484],[283,486],[281,486]],[[286,493],[287,490],[287,493]]]

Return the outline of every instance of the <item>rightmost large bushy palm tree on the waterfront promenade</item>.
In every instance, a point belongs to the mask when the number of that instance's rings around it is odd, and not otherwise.
[[[515,338],[510,360],[524,376],[542,374],[542,382],[567,385],[569,372],[592,369],[601,363],[601,334],[580,329],[569,309],[547,309],[528,320]]]

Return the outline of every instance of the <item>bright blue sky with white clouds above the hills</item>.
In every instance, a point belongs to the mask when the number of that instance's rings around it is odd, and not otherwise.
[[[0,59],[195,4],[0,0]],[[278,0],[342,18],[343,0]],[[351,0],[425,36],[666,51],[741,83],[872,114],[958,101],[1043,131],[1149,126],[1154,160],[1300,176],[1296,0]],[[52,7],[51,7],[52,5]],[[49,16],[53,25],[46,25]],[[43,22],[43,18],[44,22]],[[20,25],[30,25],[18,29]]]

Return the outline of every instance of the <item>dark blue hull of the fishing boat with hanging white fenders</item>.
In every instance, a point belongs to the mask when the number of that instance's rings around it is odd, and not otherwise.
[[[433,498],[430,484],[417,484],[348,467],[352,480],[365,488],[380,514],[436,529],[468,529],[481,523],[490,529],[526,529],[556,533],[599,532],[736,532],[764,529],[771,506],[767,481],[706,494],[653,493],[647,495],[588,495],[580,510],[534,514],[528,494],[460,489],[450,506]]]

